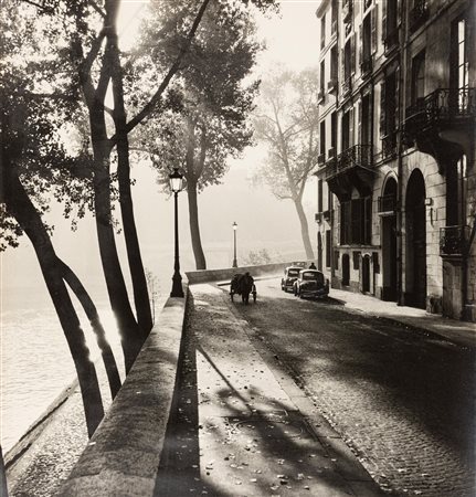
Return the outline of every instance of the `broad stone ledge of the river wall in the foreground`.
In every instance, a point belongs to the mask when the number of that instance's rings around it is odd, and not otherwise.
[[[119,489],[128,496],[154,494],[186,305],[187,296],[167,300],[119,393],[57,495],[107,497],[118,495]]]

